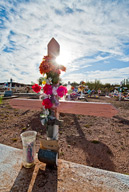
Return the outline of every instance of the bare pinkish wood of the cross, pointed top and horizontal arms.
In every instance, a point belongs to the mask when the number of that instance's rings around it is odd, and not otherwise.
[[[59,52],[60,45],[52,38],[48,43],[48,55],[55,59],[59,55]],[[10,105],[13,108],[40,111],[42,102],[38,99],[12,99],[10,100]],[[60,101],[56,113],[57,118],[59,118],[59,113],[112,117],[117,114],[117,110],[109,103]]]

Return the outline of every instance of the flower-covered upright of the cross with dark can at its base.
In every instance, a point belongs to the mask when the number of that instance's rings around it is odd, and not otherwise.
[[[38,159],[47,165],[56,165],[58,158],[58,128],[59,117],[57,107],[59,99],[66,95],[67,88],[60,85],[61,71],[66,71],[63,65],[56,62],[59,55],[60,45],[52,38],[48,43],[48,55],[43,57],[39,66],[42,75],[42,86],[35,84],[32,89],[40,93],[43,112],[40,115],[41,123],[47,130],[47,140],[41,139]]]

